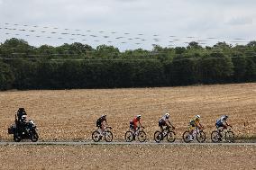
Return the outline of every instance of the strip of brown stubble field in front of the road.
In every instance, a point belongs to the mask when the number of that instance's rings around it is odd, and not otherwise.
[[[255,146],[1,146],[0,152],[1,169],[256,169]]]

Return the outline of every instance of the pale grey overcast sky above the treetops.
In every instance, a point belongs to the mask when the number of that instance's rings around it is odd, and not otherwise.
[[[125,49],[256,40],[255,0],[0,0],[0,42]]]

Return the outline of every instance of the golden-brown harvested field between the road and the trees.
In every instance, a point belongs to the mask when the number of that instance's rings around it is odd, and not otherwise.
[[[164,112],[170,113],[178,138],[196,114],[201,115],[208,138],[223,114],[230,116],[239,137],[256,136],[256,84],[0,92],[2,140],[12,140],[7,127],[19,107],[37,123],[41,140],[91,139],[96,119],[103,113],[114,128],[115,140],[123,139],[136,114],[142,114],[142,124],[152,139]]]

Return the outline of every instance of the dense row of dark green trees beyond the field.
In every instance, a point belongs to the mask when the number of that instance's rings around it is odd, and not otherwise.
[[[87,44],[0,44],[0,90],[152,87],[256,82],[256,41],[120,51]]]

